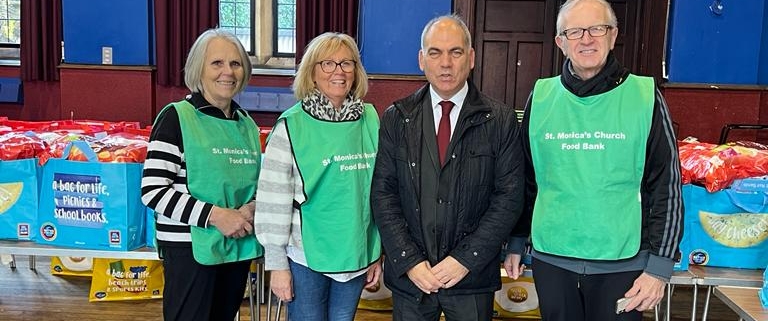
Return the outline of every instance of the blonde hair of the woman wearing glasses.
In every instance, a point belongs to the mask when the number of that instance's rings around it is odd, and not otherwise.
[[[312,73],[315,65],[342,46],[349,49],[352,59],[355,60],[355,80],[350,93],[355,98],[363,98],[368,93],[368,74],[360,61],[360,51],[357,49],[355,39],[343,33],[326,32],[312,39],[304,51],[293,81],[293,94],[296,99],[302,100],[314,91],[315,83],[312,81]]]

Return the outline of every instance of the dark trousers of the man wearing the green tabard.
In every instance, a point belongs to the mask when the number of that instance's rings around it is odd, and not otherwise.
[[[616,300],[624,297],[642,271],[578,274],[533,259],[534,284],[543,321],[640,321],[637,310],[616,314]]]

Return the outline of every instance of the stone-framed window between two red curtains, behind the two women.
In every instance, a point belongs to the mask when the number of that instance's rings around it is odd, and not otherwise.
[[[219,25],[240,38],[254,67],[293,69],[296,0],[220,0]]]

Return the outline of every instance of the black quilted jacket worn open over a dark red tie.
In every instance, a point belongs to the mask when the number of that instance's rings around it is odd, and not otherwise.
[[[385,283],[392,291],[415,298],[422,292],[407,272],[427,260],[419,177],[422,106],[430,99],[425,85],[384,112],[371,188],[374,219],[386,253]],[[501,287],[500,248],[522,211],[524,173],[518,134],[515,111],[469,83],[448,147],[445,166],[454,166],[454,174],[447,182],[454,192],[441,198],[453,205],[445,215],[438,257],[450,255],[470,272],[441,292],[481,293]]]

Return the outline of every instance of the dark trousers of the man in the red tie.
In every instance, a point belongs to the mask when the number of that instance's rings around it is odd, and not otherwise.
[[[486,321],[493,316],[493,292],[445,295],[440,292],[412,297],[392,294],[393,321],[437,321],[445,313],[446,321]]]

